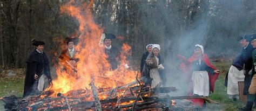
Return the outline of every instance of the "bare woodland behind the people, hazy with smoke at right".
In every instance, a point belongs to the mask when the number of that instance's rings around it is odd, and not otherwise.
[[[45,41],[50,59],[58,56],[63,39],[78,30],[76,19],[60,14],[68,0],[1,0],[0,65],[24,68],[31,39]],[[189,57],[195,44],[205,46],[210,57],[233,57],[240,50],[237,38],[256,32],[254,0],[96,0],[95,22],[107,33],[123,36],[114,46],[132,46],[131,63],[139,66],[145,46],[160,44],[167,63],[176,54]],[[56,53],[57,51],[57,53]]]

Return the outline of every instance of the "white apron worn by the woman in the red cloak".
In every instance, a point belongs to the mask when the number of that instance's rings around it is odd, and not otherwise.
[[[207,71],[193,71],[193,94],[208,96],[210,94],[209,76]]]

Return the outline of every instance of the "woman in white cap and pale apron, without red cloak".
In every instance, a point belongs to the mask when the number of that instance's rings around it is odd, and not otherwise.
[[[143,68],[143,76],[149,78],[151,81],[151,87],[161,87],[163,81],[160,78],[158,70],[164,70],[164,66],[161,64],[160,45],[154,44],[152,46],[152,52],[147,56],[146,63]]]

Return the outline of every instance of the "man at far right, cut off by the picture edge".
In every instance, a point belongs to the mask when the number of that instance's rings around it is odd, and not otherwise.
[[[240,110],[252,110],[252,106],[253,106],[253,102],[255,102],[255,94],[256,94],[256,35],[253,34],[251,37],[251,44],[254,48],[253,52],[252,52],[252,60],[253,60],[253,67],[252,67],[252,71],[250,71],[248,73],[248,75],[250,77],[252,77],[252,81],[251,81],[251,85],[249,87],[248,90],[248,98],[247,98],[247,102],[246,102],[246,106],[241,108]]]

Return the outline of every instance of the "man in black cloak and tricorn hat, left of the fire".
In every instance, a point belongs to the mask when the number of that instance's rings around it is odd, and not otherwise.
[[[39,94],[38,91],[38,80],[41,75],[46,75],[49,81],[51,81],[49,60],[44,50],[44,42],[32,40],[33,46],[36,46],[36,49],[30,53],[28,60],[26,60],[26,77],[24,85],[24,94],[23,97],[33,94]]]

